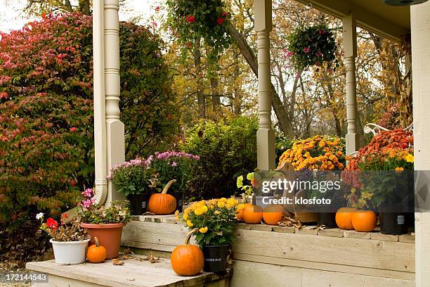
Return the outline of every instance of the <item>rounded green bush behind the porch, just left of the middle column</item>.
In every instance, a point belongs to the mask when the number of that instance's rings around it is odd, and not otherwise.
[[[233,195],[236,179],[256,167],[254,117],[239,117],[228,124],[201,121],[187,132],[183,151],[200,155],[189,188],[194,198]]]

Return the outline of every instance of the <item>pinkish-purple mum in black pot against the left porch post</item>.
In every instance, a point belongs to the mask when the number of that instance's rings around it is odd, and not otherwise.
[[[117,191],[124,193],[125,198],[129,200],[131,215],[143,215],[148,210],[152,178],[151,160],[152,157],[147,160],[136,158],[116,165],[107,178],[112,180]]]

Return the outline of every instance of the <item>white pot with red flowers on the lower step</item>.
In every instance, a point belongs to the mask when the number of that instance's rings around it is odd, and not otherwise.
[[[86,247],[90,241],[85,229],[79,225],[79,219],[65,224],[67,215],[61,215],[60,224],[49,217],[44,221],[44,214],[36,216],[41,221],[40,229],[46,231],[51,236],[49,242],[52,243],[54,257],[57,264],[80,264],[85,262]]]

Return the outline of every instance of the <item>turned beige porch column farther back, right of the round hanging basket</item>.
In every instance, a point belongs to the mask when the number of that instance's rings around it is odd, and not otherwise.
[[[357,94],[356,94],[356,57],[357,57],[357,23],[353,14],[342,18],[344,57],[346,61],[346,154],[358,150],[357,135]]]

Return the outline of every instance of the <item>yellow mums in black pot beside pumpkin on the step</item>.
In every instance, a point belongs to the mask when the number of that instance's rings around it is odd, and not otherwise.
[[[227,253],[234,241],[237,205],[235,198],[201,200],[185,208],[181,216],[190,230],[198,229],[195,241],[203,250],[205,272],[226,271]]]

